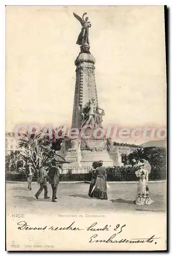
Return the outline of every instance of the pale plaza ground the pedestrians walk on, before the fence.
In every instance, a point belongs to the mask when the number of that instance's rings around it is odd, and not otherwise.
[[[57,190],[57,202],[51,202],[51,198],[44,199],[42,191],[39,200],[34,195],[39,184],[32,183],[32,190],[27,189],[27,182],[6,183],[6,209],[7,212],[24,212],[33,214],[59,213],[95,213],[101,211],[133,211],[133,212],[163,212],[165,211],[166,182],[149,183],[150,197],[155,201],[151,205],[135,205],[137,183],[132,184],[110,184],[108,200],[92,199],[88,196],[90,184],[86,183],[60,183]],[[52,196],[52,189],[48,184],[48,195]]]

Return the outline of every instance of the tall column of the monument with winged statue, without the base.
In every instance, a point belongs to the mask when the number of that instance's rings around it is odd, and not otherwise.
[[[98,106],[96,81],[95,81],[95,58],[90,53],[89,42],[89,28],[91,23],[88,21],[88,17],[84,19],[84,13],[82,18],[74,13],[74,16],[81,23],[82,29],[78,36],[76,44],[80,45],[80,53],[75,60],[76,65],[76,84],[75,84],[75,96],[73,106],[72,127],[81,127],[84,125],[84,114],[87,115],[87,106],[89,102],[94,102]],[[84,120],[85,124],[89,121]],[[93,120],[90,120],[92,124]],[[91,125],[91,127],[94,125]]]

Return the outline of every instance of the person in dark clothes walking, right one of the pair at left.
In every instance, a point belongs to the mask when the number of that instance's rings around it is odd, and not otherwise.
[[[51,169],[49,170],[49,183],[51,184],[52,190],[53,190],[53,194],[52,194],[52,202],[57,202],[55,199],[57,199],[56,197],[56,193],[57,193],[57,186],[59,184],[59,177],[60,177],[60,172],[59,169],[61,167],[59,165],[56,164],[56,162],[53,163],[53,165],[51,166]]]

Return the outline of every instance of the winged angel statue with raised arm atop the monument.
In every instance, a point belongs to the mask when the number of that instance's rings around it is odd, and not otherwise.
[[[83,13],[82,18],[78,16],[76,13],[73,13],[73,14],[75,18],[77,18],[77,20],[79,20],[80,24],[82,25],[82,29],[78,36],[76,44],[80,46],[84,44],[90,45],[89,44],[89,28],[91,27],[91,23],[88,22],[88,19],[89,19],[88,17],[84,18],[84,16],[87,15],[87,12]]]

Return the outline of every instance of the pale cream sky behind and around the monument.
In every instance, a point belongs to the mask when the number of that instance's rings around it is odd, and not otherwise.
[[[166,126],[163,6],[7,6],[6,131],[71,125],[74,61],[88,13],[103,126]]]

